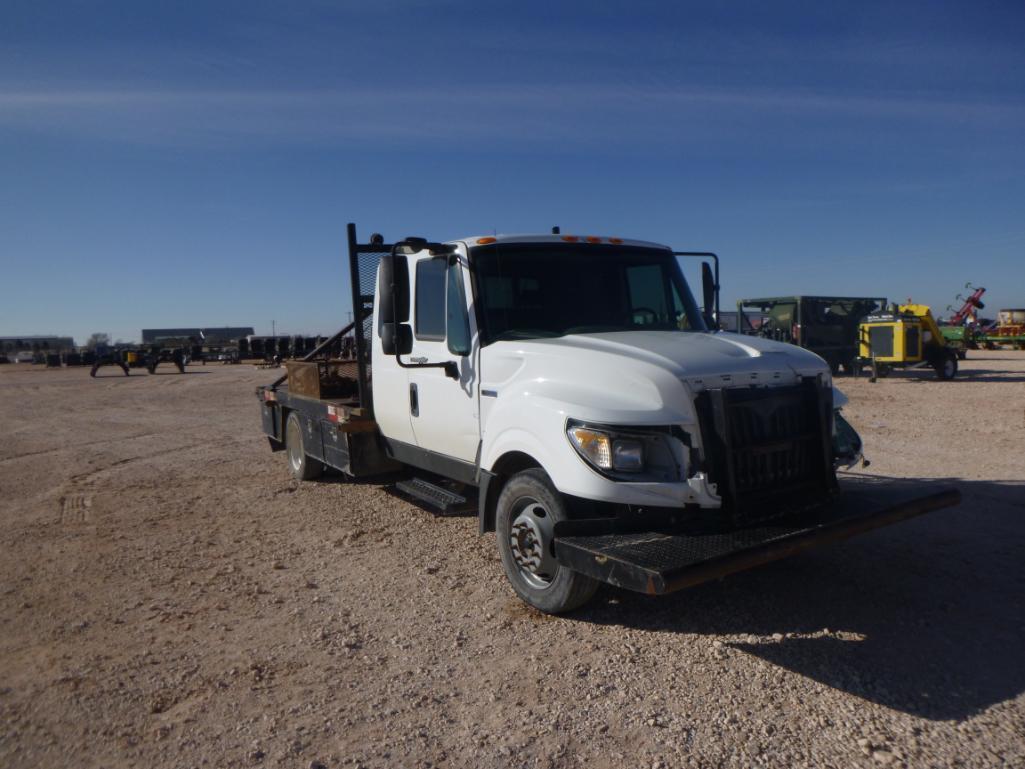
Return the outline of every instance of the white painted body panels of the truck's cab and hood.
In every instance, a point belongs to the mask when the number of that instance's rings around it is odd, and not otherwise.
[[[508,242],[558,242],[554,236],[506,237]],[[473,240],[469,241],[470,243]],[[658,246],[643,241],[626,245]],[[457,242],[465,293],[473,302],[466,242]],[[409,257],[411,319],[415,265]],[[473,324],[473,313],[470,313]],[[400,368],[373,338],[374,411],[389,439],[464,461],[480,457],[491,471],[502,456],[522,452],[545,470],[556,487],[587,499],[648,505],[720,507],[714,487],[691,470],[673,480],[612,480],[590,468],[570,445],[569,419],[593,424],[676,426],[701,450],[694,397],[705,388],[780,387],[802,376],[831,382],[817,355],[790,345],[727,332],[621,331],[498,341],[481,348],[471,325],[468,356],[443,340],[414,339],[404,360],[456,361],[459,378],[443,369]],[[409,385],[418,389],[419,414],[410,415]],[[840,396],[842,397],[842,396]],[[673,439],[675,440],[675,439]]]

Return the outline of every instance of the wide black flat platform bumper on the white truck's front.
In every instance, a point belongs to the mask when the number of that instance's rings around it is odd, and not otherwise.
[[[661,595],[777,561],[941,508],[960,492],[873,476],[853,476],[838,498],[799,517],[733,531],[629,531],[623,519],[556,524],[562,565],[626,590]]]

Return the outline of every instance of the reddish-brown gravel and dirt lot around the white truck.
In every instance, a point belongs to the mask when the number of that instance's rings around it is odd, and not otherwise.
[[[960,507],[551,618],[473,519],[293,482],[275,372],[2,366],[0,766],[1025,766],[1025,354],[962,367],[840,382]]]

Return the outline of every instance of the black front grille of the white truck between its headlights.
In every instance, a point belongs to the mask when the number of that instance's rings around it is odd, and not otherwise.
[[[709,478],[737,525],[807,510],[835,488],[831,391],[817,378],[707,390],[696,405]]]

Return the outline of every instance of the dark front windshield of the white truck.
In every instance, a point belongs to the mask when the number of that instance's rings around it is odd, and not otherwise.
[[[606,331],[703,331],[668,250],[592,244],[474,249],[484,343]]]

